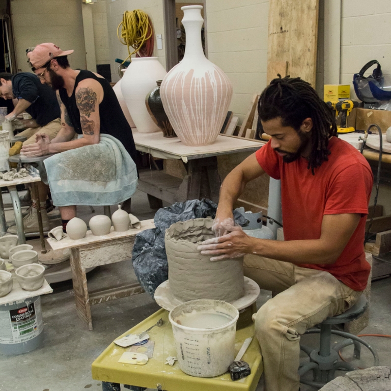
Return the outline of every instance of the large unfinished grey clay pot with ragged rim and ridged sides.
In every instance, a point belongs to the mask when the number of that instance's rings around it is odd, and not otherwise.
[[[169,283],[180,300],[233,301],[244,295],[243,258],[211,262],[198,243],[214,237],[211,218],[179,221],[165,233]]]

